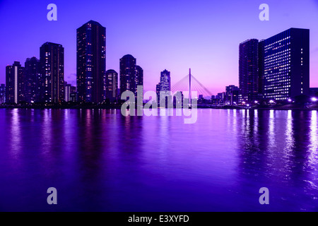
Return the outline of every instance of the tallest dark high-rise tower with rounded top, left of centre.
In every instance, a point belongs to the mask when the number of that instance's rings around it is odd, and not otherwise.
[[[78,101],[103,102],[106,98],[106,28],[90,20],[76,32]]]

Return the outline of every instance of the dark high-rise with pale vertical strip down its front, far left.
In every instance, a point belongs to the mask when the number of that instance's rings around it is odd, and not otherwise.
[[[24,67],[20,62],[6,66],[6,102],[16,103],[25,101]]]

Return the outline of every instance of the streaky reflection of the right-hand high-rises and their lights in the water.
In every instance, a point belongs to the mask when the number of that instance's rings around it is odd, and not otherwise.
[[[241,192],[252,196],[259,188],[250,182],[257,181],[273,191],[273,199],[279,205],[295,198],[290,194],[298,194],[312,205],[303,206],[304,210],[313,208],[318,191],[317,111],[244,112],[238,123],[242,128],[238,141]]]

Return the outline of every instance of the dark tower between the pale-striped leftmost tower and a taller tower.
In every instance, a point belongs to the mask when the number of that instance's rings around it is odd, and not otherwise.
[[[25,101],[40,102],[42,93],[42,76],[40,60],[36,57],[25,61]]]

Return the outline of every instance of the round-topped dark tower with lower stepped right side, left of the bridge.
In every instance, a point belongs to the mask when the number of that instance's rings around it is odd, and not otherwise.
[[[137,86],[143,85],[143,69],[136,65],[136,58],[130,54],[119,61],[120,68],[120,95],[128,90],[137,97]]]

